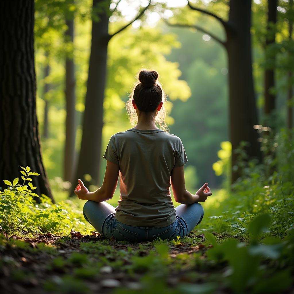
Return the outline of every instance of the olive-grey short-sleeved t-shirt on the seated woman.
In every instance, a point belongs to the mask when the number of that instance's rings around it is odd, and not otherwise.
[[[111,136],[103,158],[119,165],[118,221],[160,228],[176,220],[171,171],[188,162],[180,138],[161,129],[131,128]]]

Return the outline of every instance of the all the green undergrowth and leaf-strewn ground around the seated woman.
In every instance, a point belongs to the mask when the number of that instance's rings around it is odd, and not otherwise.
[[[281,132],[271,144],[276,142],[276,156],[286,152],[288,160],[275,163],[273,173],[264,163],[245,164],[240,148],[242,177],[230,192],[221,189],[203,203],[201,225],[183,239],[143,243],[103,238],[83,220],[75,199],[53,204],[34,194],[38,174],[21,167],[21,180],[4,180],[8,188],[0,193],[1,289],[116,294],[293,291],[294,186],[287,168],[293,152],[289,134]],[[227,159],[220,159],[224,171]]]

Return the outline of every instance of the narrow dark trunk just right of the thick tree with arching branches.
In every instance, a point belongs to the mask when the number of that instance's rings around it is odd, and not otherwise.
[[[265,46],[267,49],[268,46],[275,43],[275,31],[272,28],[273,25],[277,22],[277,0],[268,0],[268,24],[267,24],[267,34],[265,40]],[[265,53],[266,59],[268,61],[275,60],[275,56]],[[276,96],[274,93],[270,93],[271,88],[275,86],[275,75],[274,69],[265,69],[264,75],[264,113],[266,115],[272,114],[273,110],[275,110],[275,100]],[[267,122],[269,124],[270,122]],[[271,124],[270,127],[273,127]]]

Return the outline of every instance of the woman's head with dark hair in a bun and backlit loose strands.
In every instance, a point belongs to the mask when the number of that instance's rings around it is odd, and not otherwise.
[[[126,108],[132,126],[136,126],[138,117],[144,115],[150,117],[150,119],[155,118],[155,123],[159,124],[164,131],[168,131],[164,121],[166,116],[164,109],[166,96],[157,78],[157,71],[141,70],[138,74],[139,81],[135,84],[129,96],[130,99],[126,103]],[[138,111],[134,108],[133,103],[136,104]],[[161,107],[160,103],[163,104]],[[160,109],[159,111],[157,111],[158,108]]]

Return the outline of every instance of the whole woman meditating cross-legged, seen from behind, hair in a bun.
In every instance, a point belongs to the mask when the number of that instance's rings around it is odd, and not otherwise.
[[[168,133],[164,123],[166,96],[156,71],[142,70],[127,111],[133,128],[111,136],[101,188],[89,192],[81,180],[75,188],[85,219],[105,238],[131,242],[181,238],[203,218],[199,202],[211,195],[205,183],[196,194],[186,190],[184,164],[188,162],[181,139]],[[137,123],[136,123],[137,121]],[[156,126],[159,124],[161,128]],[[120,175],[120,200],[114,208],[103,202],[113,197]],[[173,206],[170,186],[175,201]]]

